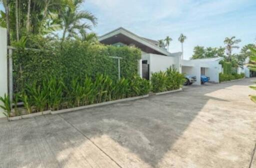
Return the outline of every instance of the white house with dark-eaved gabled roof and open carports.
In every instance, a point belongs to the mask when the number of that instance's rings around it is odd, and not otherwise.
[[[138,63],[139,75],[150,79],[151,74],[165,71],[167,68],[176,68],[180,73],[195,75],[200,85],[200,76],[210,77],[210,81],[219,82],[219,72],[222,67],[219,61],[223,58],[210,58],[198,60],[181,60],[181,52],[170,53],[158,46],[158,42],[138,36],[122,27],[110,31],[99,37],[99,42],[115,46],[136,46],[141,49],[141,60]]]

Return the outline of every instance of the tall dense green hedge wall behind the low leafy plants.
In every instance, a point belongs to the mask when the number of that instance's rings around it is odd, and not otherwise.
[[[117,59],[120,60],[121,77],[130,78],[137,73],[137,60],[141,51],[128,46],[114,47],[102,44],[89,45],[79,41],[52,43],[50,50],[24,50],[13,53],[14,92],[21,92],[26,84],[41,84],[49,75],[61,77],[65,84],[73,78],[95,78],[97,73],[118,78]]]

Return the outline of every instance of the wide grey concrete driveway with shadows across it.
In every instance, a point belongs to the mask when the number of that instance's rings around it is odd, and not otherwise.
[[[1,121],[0,168],[256,168],[252,84]]]

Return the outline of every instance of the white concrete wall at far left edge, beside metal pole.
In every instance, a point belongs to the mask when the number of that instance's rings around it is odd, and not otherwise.
[[[0,96],[8,92],[7,87],[7,31],[0,27]],[[0,109],[0,118],[5,117]]]

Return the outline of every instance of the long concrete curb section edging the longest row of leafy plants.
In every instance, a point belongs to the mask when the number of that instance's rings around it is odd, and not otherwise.
[[[88,109],[88,108],[92,108],[92,107],[100,107],[100,106],[110,105],[110,104],[114,104],[114,103],[120,103],[120,102],[126,102],[126,101],[131,101],[131,100],[143,99],[143,98],[146,98],[146,97],[149,97],[149,95],[147,94],[147,95],[144,95],[144,96],[129,97],[129,98],[125,98],[125,99],[119,99],[119,100],[113,100],[113,101],[108,101],[108,102],[103,102],[103,103],[91,104],[91,105],[87,105],[87,106],[80,106],[80,107],[75,107],[75,108],[71,108],[71,109],[51,111],[50,114],[60,114],[60,113],[73,112],[73,111]]]

